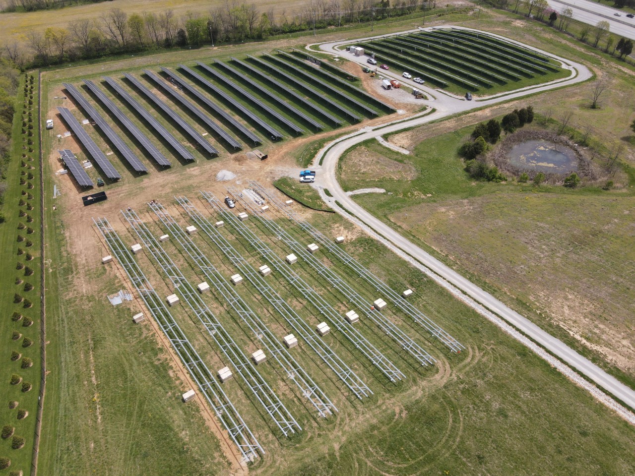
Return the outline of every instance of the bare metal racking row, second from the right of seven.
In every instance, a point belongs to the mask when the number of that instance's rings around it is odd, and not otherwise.
[[[347,282],[342,280],[333,270],[328,268],[322,263],[322,261],[318,260],[314,255],[309,253],[304,246],[298,243],[284,228],[278,225],[275,221],[269,220],[264,217],[264,211],[260,209],[253,201],[247,200],[244,197],[239,197],[240,194],[237,193],[234,187],[227,188],[231,195],[234,195],[234,199],[239,200],[248,206],[254,213],[255,216],[260,220],[269,231],[274,233],[279,239],[281,239],[286,245],[288,245],[295,253],[297,253],[298,258],[302,257],[305,261],[312,265],[312,267],[318,272],[318,274],[326,279],[326,281],[333,286],[333,288],[340,291],[342,296],[354,305],[359,308],[359,312],[362,312],[368,319],[375,322],[377,326],[384,331],[387,336],[392,338],[392,340],[398,343],[399,347],[403,348],[408,352],[408,354],[412,355],[417,359],[422,366],[427,366],[428,364],[434,365],[436,359],[432,357],[432,355],[428,354],[418,343],[416,343],[408,334],[406,334],[402,329],[399,328],[394,322],[390,321],[387,317],[382,315],[379,311],[370,310],[372,303],[366,301],[359,293],[351,288]]]

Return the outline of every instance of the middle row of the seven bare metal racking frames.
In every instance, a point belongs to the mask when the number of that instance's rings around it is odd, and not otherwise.
[[[293,328],[297,336],[304,339],[309,344],[323,362],[338,376],[340,380],[355,394],[358,399],[368,397],[373,392],[368,385],[359,378],[352,369],[342,360],[330,347],[316,336],[311,327],[293,310],[293,308],[284,301],[282,296],[273,289],[267,281],[253,270],[251,265],[237,253],[236,249],[230,244],[223,235],[205,218],[201,212],[190,202],[187,197],[175,197],[178,204],[183,207],[187,215],[194,220],[197,227],[203,230],[210,240],[220,248],[227,258],[243,273],[253,286],[262,294],[267,301],[276,309],[276,311],[284,318],[286,322]]]

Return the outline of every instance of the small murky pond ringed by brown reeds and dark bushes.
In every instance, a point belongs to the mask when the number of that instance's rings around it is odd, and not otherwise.
[[[545,140],[520,143],[509,151],[507,157],[513,166],[528,171],[564,175],[578,170],[578,159],[572,149]]]

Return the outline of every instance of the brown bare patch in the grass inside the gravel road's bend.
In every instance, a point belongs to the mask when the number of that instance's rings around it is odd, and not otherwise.
[[[362,180],[414,180],[417,169],[411,164],[388,159],[366,147],[352,150],[342,162],[343,176],[354,176]]]

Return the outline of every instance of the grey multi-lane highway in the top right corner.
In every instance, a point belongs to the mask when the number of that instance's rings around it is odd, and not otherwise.
[[[560,13],[565,8],[573,10],[573,20],[597,25],[601,20],[606,20],[610,25],[610,32],[635,40],[635,18],[627,18],[626,13],[618,8],[611,8],[589,0],[547,0],[549,6]],[[615,13],[621,16],[616,17]]]

